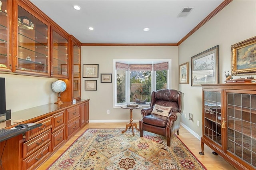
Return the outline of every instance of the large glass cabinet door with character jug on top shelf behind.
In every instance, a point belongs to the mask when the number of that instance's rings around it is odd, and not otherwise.
[[[16,72],[48,74],[48,25],[18,6]]]

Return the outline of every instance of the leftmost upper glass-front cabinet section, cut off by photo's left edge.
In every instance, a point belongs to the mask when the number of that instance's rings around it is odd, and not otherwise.
[[[1,0],[0,10],[0,71],[12,71],[11,22],[12,1]]]

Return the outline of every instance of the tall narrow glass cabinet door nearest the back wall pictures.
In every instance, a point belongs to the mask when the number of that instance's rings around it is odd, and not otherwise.
[[[81,48],[73,45],[73,99],[80,99],[80,54]]]

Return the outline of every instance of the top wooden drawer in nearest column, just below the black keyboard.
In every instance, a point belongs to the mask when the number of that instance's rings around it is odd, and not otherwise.
[[[26,141],[38,136],[42,132],[45,132],[46,130],[52,128],[52,116],[48,117],[46,119],[43,119],[41,121],[35,122],[35,123],[42,123],[42,126],[38,128],[34,128],[32,130],[29,130],[26,132]]]

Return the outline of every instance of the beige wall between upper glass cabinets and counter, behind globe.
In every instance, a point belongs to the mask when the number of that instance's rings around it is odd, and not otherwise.
[[[6,78],[6,110],[12,112],[57,101],[52,82],[57,79],[25,75],[0,74]]]

